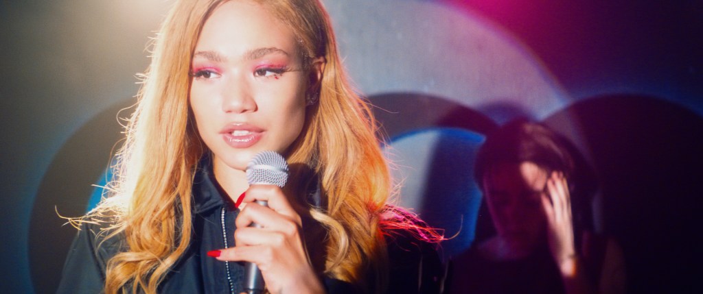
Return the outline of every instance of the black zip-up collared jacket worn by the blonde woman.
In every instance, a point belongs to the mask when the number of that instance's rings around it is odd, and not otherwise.
[[[242,292],[243,265],[221,262],[206,254],[233,246],[238,214],[238,209],[221,196],[212,168],[206,166],[196,173],[193,199],[191,246],[160,283],[159,293]],[[100,234],[104,227],[104,223],[82,223],[68,253],[57,293],[102,293],[106,262],[124,250],[120,236],[104,239],[104,234]],[[434,244],[415,239],[410,232],[396,232],[386,240],[390,260],[387,293],[439,293],[444,271]],[[328,293],[359,292],[351,284],[330,277],[323,277],[323,282]]]

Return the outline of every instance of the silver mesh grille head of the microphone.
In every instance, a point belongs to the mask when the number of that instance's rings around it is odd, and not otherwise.
[[[273,151],[259,152],[247,165],[249,185],[276,185],[283,188],[288,181],[288,163]]]

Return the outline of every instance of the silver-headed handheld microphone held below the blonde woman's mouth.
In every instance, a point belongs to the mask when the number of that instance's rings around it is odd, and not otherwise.
[[[276,185],[283,188],[288,181],[288,163],[276,152],[259,152],[247,165],[247,181],[249,185]],[[269,206],[266,201],[257,200],[256,202],[262,206]],[[250,227],[261,226],[252,223]],[[247,294],[264,292],[264,276],[254,262],[245,262],[244,290]]]

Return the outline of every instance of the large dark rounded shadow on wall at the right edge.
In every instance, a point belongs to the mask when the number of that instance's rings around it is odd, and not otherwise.
[[[623,248],[628,293],[703,293],[703,118],[659,98],[607,95],[545,120],[585,144],[603,233]]]

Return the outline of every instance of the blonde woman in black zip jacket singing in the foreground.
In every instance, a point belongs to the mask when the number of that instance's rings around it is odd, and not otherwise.
[[[240,293],[242,262],[271,293],[438,292],[441,236],[386,204],[374,131],[318,1],[176,1],[58,292]],[[284,189],[247,184],[264,150]]]

